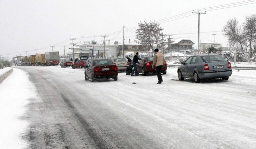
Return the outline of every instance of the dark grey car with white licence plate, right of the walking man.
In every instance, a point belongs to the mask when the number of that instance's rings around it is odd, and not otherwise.
[[[178,67],[179,80],[192,78],[199,83],[206,78],[221,78],[228,80],[232,74],[228,60],[217,54],[193,55]]]

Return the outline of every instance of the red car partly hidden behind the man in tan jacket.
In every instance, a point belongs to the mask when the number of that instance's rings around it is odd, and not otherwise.
[[[154,61],[153,56],[145,56],[139,60],[139,64],[137,64],[138,73],[142,73],[143,76],[146,76],[148,73],[156,73],[156,68],[152,68],[152,64]],[[164,66],[161,69],[161,73],[166,74],[167,63],[164,61]]]

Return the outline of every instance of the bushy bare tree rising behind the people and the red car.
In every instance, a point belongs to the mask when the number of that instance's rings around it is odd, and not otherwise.
[[[159,48],[162,43],[162,37],[166,36],[162,32],[163,28],[159,27],[159,25],[159,23],[152,21],[138,23],[139,29],[135,31],[135,41],[143,45],[149,45],[152,50]]]

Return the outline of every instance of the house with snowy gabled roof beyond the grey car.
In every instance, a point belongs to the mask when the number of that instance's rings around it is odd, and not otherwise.
[[[186,38],[177,38],[174,41],[170,41],[171,49],[174,51],[180,51],[180,50],[188,50],[193,49],[193,45],[195,44],[190,39]]]

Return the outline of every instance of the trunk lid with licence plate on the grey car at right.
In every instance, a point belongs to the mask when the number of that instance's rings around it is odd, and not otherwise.
[[[206,62],[206,64],[208,64],[209,71],[219,71],[228,69],[227,60],[208,61]]]

